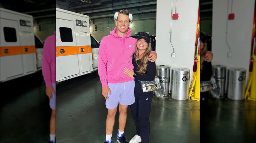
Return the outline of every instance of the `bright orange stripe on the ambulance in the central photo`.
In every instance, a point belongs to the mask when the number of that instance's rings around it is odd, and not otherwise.
[[[84,48],[84,52],[81,52],[81,48]],[[61,49],[64,49],[65,53],[60,53]],[[56,47],[56,51],[57,51],[56,56],[86,54],[86,53],[92,53],[92,46],[61,46],[61,47]]]

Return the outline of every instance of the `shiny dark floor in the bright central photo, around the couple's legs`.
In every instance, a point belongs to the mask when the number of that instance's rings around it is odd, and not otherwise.
[[[74,84],[76,85],[71,86]],[[97,74],[85,75],[77,80],[57,85],[56,112],[58,143],[105,141],[107,108]],[[117,112],[113,142],[117,142],[118,115]],[[153,98],[150,127],[150,142],[199,143],[200,102],[175,100],[171,97]],[[128,107],[124,134],[128,142],[136,134],[130,107]]]

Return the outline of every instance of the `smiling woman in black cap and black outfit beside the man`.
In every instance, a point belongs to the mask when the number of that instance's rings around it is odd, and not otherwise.
[[[130,107],[136,126],[136,135],[130,140],[130,143],[139,143],[140,141],[142,143],[149,143],[149,115],[151,112],[153,91],[143,93],[139,83],[139,81],[153,81],[156,75],[156,63],[148,62],[148,56],[151,51],[149,41],[150,37],[147,33],[139,35],[132,60],[134,70],[124,69],[129,77],[135,79],[135,103],[130,105]]]

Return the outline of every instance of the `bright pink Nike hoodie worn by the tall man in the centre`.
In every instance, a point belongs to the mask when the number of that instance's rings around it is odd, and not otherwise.
[[[131,28],[124,37],[117,35],[117,27],[102,38],[99,46],[98,73],[102,87],[108,83],[123,83],[134,80],[124,73],[124,68],[133,69],[132,56],[137,39],[130,37]]]

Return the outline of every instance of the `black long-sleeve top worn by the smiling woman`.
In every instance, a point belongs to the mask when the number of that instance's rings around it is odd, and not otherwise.
[[[139,64],[140,60],[137,60],[137,63]],[[139,83],[139,81],[153,81],[156,76],[156,63],[148,61],[147,62],[147,71],[145,74],[138,74],[137,71],[139,71],[139,66],[135,63],[135,57],[133,55],[132,64],[134,66],[134,73],[136,74],[135,77],[135,83]]]

